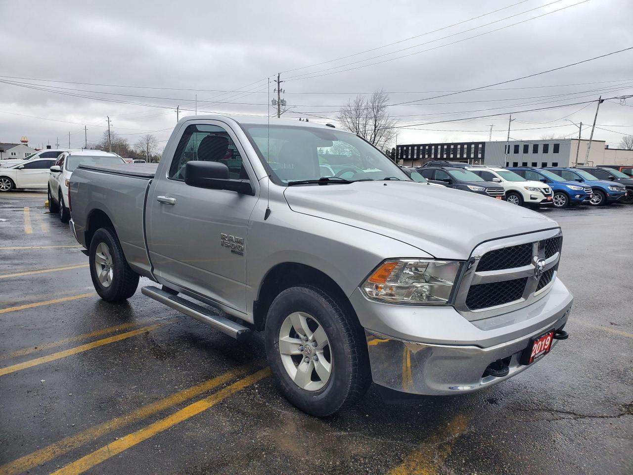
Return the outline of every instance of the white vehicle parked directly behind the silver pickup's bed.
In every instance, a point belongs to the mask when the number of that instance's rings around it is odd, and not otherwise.
[[[68,196],[68,181],[73,170],[78,165],[91,163],[92,165],[116,165],[125,160],[115,153],[101,150],[70,150],[61,153],[54,165],[49,169],[48,176],[48,210],[59,213],[60,220],[67,223],[70,220],[70,210],[66,206]]]

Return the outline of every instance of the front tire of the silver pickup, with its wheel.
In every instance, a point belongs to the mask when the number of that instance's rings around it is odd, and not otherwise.
[[[292,324],[297,319],[301,325]],[[307,342],[297,338],[301,334],[295,331],[296,327],[303,335],[312,332]],[[291,343],[280,349],[280,333],[287,331],[290,332],[287,341]],[[316,338],[313,340],[312,336]],[[302,286],[282,291],[268,310],[264,339],[268,364],[279,391],[308,414],[324,417],[349,407],[365,395],[371,383],[363,329],[354,315],[321,289]],[[300,347],[300,343],[310,345]],[[292,352],[296,353],[291,355]],[[322,375],[327,373],[327,364],[330,372],[326,378]],[[300,374],[301,367],[308,371]],[[302,379],[302,374],[308,374],[309,381]]]

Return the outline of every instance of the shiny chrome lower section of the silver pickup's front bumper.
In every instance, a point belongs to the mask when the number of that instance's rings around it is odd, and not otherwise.
[[[570,301],[556,312],[555,322],[488,348],[417,343],[366,329],[372,379],[392,390],[422,395],[470,393],[491,386],[525,371],[529,365],[520,364],[520,359],[530,338],[565,326],[571,306]],[[557,342],[555,339],[552,347]],[[507,357],[510,357],[510,372],[506,376],[483,376],[489,364]]]

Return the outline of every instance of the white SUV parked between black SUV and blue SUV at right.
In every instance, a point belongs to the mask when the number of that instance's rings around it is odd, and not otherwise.
[[[529,181],[502,167],[468,167],[485,181],[501,184],[506,192],[506,201],[513,205],[551,205],[552,189],[539,181]]]

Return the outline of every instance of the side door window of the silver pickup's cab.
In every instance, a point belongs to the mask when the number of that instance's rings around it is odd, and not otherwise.
[[[248,174],[229,133],[218,125],[189,125],[176,148],[169,177],[185,179],[185,165],[192,160],[219,162],[229,167],[229,178],[248,180]]]

